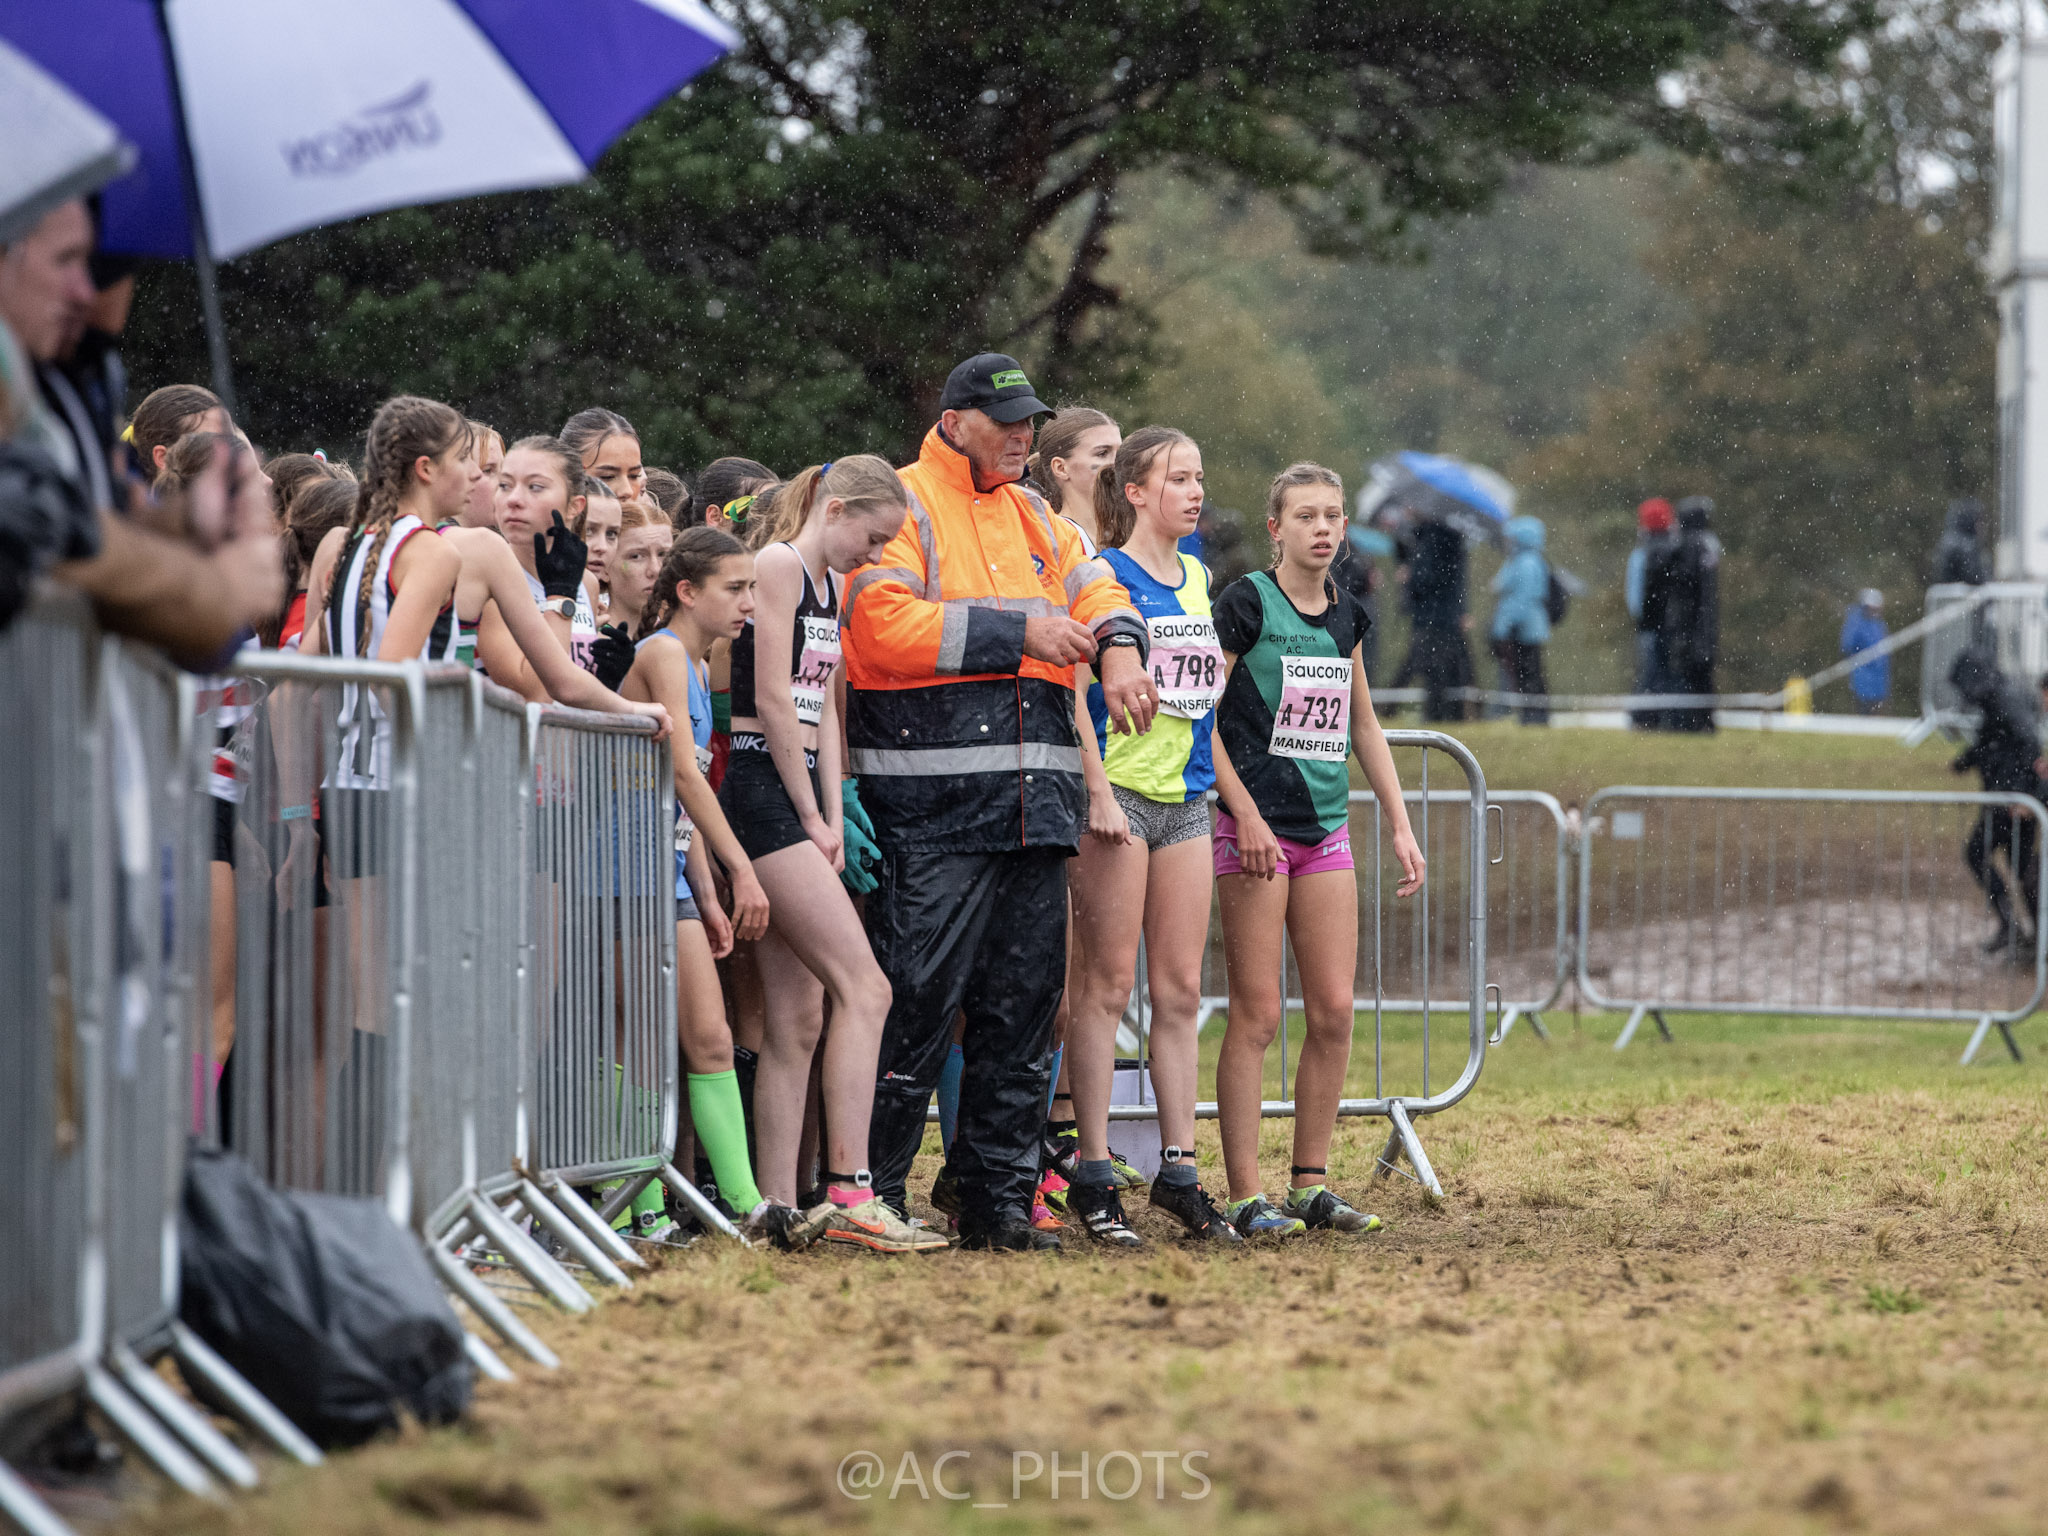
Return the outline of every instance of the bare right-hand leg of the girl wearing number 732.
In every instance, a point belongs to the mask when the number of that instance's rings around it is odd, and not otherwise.
[[[1352,973],[1358,969],[1358,877],[1323,870],[1292,881],[1286,928],[1294,938],[1303,1006],[1309,1016],[1294,1067],[1294,1165],[1327,1167],[1337,1130],[1337,1102],[1352,1065]],[[1296,1174],[1294,1188],[1321,1184]]]

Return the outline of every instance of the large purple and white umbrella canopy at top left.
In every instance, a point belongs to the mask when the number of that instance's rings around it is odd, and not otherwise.
[[[139,147],[102,244],[186,256],[203,227],[215,258],[578,180],[737,43],[696,0],[0,0],[0,39]]]

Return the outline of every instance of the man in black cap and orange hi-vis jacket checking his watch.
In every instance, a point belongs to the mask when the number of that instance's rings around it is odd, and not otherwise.
[[[1118,731],[1151,727],[1145,621],[1073,524],[1024,485],[1032,418],[1016,358],[952,371],[903,469],[909,516],[846,584],[846,741],[883,850],[868,895],[895,989],[868,1157],[909,1212],[924,1114],[965,1014],[950,1171],[969,1247],[1059,1247],[1030,1225],[1053,1016],[1067,977],[1067,858],[1087,825],[1073,666]]]

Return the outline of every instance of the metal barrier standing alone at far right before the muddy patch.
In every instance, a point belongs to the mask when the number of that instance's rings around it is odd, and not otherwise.
[[[1993,1028],[2048,989],[2040,850],[2025,795],[1604,788],[1579,852],[1579,989],[1628,1010],[1614,1049],[1667,1012],[1819,1014]],[[1987,952],[1987,887],[2015,936]]]

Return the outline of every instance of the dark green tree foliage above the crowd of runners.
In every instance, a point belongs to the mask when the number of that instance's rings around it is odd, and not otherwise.
[[[977,348],[1055,393],[1147,362],[1149,317],[1104,276],[1135,172],[1276,193],[1319,250],[1384,252],[1516,162],[1645,139],[1827,160],[1843,119],[1796,84],[1870,20],[1864,0],[715,2],[743,49],[592,182],[231,262],[252,432],[346,451],[414,389],[514,434],[602,401],[655,463],[903,453]],[[1788,88],[1659,90],[1729,49]],[[154,270],[141,387],[203,377],[195,315],[188,272]]]

